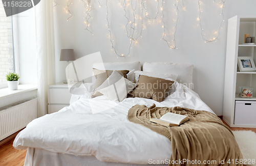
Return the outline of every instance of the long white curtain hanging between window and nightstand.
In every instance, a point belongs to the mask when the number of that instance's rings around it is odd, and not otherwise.
[[[55,83],[53,3],[42,0],[35,7],[38,75],[38,117],[48,113],[48,85]]]

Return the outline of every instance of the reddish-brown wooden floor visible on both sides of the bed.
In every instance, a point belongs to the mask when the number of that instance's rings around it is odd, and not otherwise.
[[[256,133],[256,128],[242,128],[242,127],[229,127],[229,128],[233,131],[252,130]],[[14,141],[14,138],[0,146],[0,166],[24,165],[27,150],[14,149],[12,146],[13,141]]]

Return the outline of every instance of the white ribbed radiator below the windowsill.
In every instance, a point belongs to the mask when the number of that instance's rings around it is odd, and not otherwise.
[[[0,108],[0,141],[37,118],[37,98],[30,98]]]

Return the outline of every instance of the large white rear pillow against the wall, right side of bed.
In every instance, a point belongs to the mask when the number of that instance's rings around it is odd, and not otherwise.
[[[145,62],[143,64],[143,71],[178,74],[177,81],[192,89],[193,67],[194,65],[190,64],[175,64],[169,62]]]

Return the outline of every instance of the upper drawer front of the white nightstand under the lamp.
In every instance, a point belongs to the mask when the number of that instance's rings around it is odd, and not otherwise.
[[[69,89],[48,89],[49,104],[69,104],[71,93]]]

